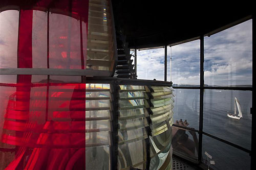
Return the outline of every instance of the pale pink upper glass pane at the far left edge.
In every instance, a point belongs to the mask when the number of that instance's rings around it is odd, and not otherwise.
[[[17,68],[19,12],[0,13],[0,68]]]

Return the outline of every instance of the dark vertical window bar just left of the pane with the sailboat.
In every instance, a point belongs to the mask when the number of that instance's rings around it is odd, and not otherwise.
[[[203,102],[204,102],[204,36],[200,36],[200,115],[199,115],[199,146],[198,160],[202,161],[203,141]]]

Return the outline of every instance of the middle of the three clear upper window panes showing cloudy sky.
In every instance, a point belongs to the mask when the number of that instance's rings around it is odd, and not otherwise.
[[[200,85],[200,40],[172,46],[173,86]]]

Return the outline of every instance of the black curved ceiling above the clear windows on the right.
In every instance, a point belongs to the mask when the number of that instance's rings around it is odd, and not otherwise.
[[[112,5],[116,30],[132,48],[174,44],[252,15],[250,5],[242,3],[112,0]]]

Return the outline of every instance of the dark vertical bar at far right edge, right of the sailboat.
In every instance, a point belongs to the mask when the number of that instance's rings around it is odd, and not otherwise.
[[[251,169],[255,169],[255,116],[254,116],[254,110],[255,110],[255,100],[253,100],[253,94],[255,94],[255,39],[256,39],[256,22],[255,22],[255,14],[252,15],[252,108],[251,108]],[[254,68],[254,69],[253,69]]]

